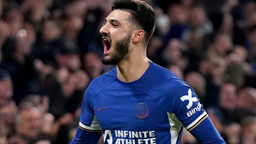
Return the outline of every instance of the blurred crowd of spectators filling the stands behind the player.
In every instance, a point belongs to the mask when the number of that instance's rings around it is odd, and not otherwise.
[[[64,144],[101,63],[113,0],[0,0],[0,144]],[[148,58],[186,81],[227,144],[256,143],[256,1],[145,0]],[[182,144],[197,144],[184,130]]]

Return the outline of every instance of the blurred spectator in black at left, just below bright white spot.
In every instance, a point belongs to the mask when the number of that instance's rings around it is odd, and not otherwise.
[[[30,51],[31,43],[25,39],[9,39],[2,48],[3,62],[0,67],[12,77],[16,103],[33,88],[29,83],[35,77]]]

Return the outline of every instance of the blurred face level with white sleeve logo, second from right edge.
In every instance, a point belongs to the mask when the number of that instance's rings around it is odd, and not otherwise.
[[[224,109],[233,110],[236,107],[236,87],[233,84],[224,84],[220,92],[220,106]]]

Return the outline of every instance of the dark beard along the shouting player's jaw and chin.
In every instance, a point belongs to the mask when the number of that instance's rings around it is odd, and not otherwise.
[[[105,65],[116,65],[129,51],[131,33],[128,33],[123,39],[116,41],[116,52],[111,54],[110,58],[102,57],[101,62]]]

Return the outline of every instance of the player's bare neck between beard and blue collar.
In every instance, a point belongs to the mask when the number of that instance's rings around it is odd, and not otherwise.
[[[133,82],[139,79],[148,67],[149,60],[146,56],[122,60],[117,64],[117,77],[123,82]]]

